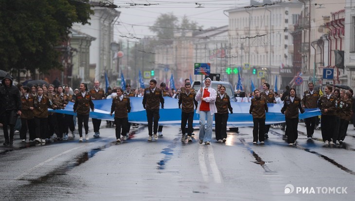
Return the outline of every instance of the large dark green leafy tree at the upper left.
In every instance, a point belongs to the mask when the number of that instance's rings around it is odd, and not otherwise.
[[[60,68],[60,46],[73,23],[89,23],[89,0],[0,0],[0,68]]]

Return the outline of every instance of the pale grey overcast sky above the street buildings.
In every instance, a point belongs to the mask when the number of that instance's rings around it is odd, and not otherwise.
[[[120,25],[115,26],[115,40],[118,40],[122,38],[119,35],[139,38],[153,35],[148,26],[152,26],[160,14],[166,13],[173,13],[179,20],[186,15],[190,21],[203,25],[204,29],[225,26],[228,25],[228,17],[223,11],[247,6],[249,0],[114,0],[114,4],[120,6],[117,10],[121,12]]]

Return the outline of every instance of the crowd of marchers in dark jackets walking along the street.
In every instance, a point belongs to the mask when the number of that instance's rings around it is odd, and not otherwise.
[[[164,96],[178,99],[178,108],[181,109],[181,141],[192,142],[193,118],[199,114],[199,144],[211,144],[213,130],[213,116],[215,116],[215,139],[224,143],[227,139],[227,121],[229,113],[233,114],[230,97],[225,93],[226,88],[219,85],[218,89],[212,88],[211,79],[206,78],[204,86],[193,89],[189,79],[178,91],[168,92],[166,84],[157,86],[156,80],[150,80],[149,87],[145,89],[131,89],[129,84],[126,89],[108,88],[107,93],[100,88],[98,81],[94,88],[88,90],[87,84],[81,83],[79,89],[70,93],[68,85],[13,85],[10,75],[2,80],[0,87],[0,123],[2,123],[5,142],[3,145],[14,144],[14,128],[18,116],[21,121],[19,136],[22,142],[27,140],[44,145],[53,140],[68,140],[75,138],[74,130],[77,122],[79,141],[89,140],[89,112],[94,111],[92,100],[112,99],[110,115],[114,121],[107,121],[116,125],[116,141],[127,140],[131,124],[128,122],[128,113],[131,110],[130,97],[143,97],[142,105],[146,110],[148,122],[148,141],[158,140],[162,135],[163,126],[159,125],[160,107],[164,108]],[[264,144],[268,138],[270,125],[265,125],[267,103],[283,103],[281,112],[285,115],[285,136],[289,145],[296,145],[298,138],[299,113],[304,109],[319,108],[321,110],[321,134],[325,144],[342,144],[345,139],[349,122],[354,114],[353,90],[333,89],[325,86],[324,95],[314,90],[314,84],[308,84],[308,90],[303,93],[302,99],[297,96],[295,88],[286,86],[286,91],[280,94],[272,92],[268,83],[263,84],[263,90],[254,90],[248,97],[237,98],[238,102],[250,102],[249,113],[253,117],[253,144],[258,141]],[[73,112],[76,116],[49,111],[64,109],[69,102],[73,102]],[[305,118],[308,140],[312,140],[315,126],[319,117]],[[354,122],[354,121],[353,121]],[[94,137],[100,136],[101,119],[92,118]],[[187,125],[187,128],[186,128]],[[137,127],[137,124],[133,124]],[[10,132],[8,131],[10,130]],[[54,135],[55,134],[55,135]],[[187,134],[187,136],[185,135]],[[122,135],[122,138],[121,138]]]

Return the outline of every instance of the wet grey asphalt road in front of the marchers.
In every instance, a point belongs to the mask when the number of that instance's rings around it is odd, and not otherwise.
[[[250,127],[229,132],[226,144],[199,145],[198,130],[192,143],[180,142],[175,127],[148,142],[144,125],[117,144],[114,128],[105,125],[100,138],[90,133],[83,143],[77,134],[34,146],[15,135],[15,145],[0,146],[0,200],[355,200],[352,125],[344,145],[324,146],[318,130],[307,141],[300,123],[296,147],[287,146],[277,128],[265,145],[253,145]],[[285,194],[286,184],[294,192]],[[297,191],[301,187],[315,193]],[[325,193],[332,187],[346,187],[346,194]]]

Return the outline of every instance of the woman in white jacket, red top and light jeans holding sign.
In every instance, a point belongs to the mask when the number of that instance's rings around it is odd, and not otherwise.
[[[196,113],[200,115],[200,132],[199,143],[205,142],[206,145],[211,144],[213,115],[217,113],[217,108],[214,104],[217,98],[217,92],[211,87],[211,79],[206,78],[205,86],[198,90],[195,100],[198,101]],[[205,122],[207,118],[207,127]]]

